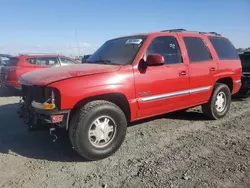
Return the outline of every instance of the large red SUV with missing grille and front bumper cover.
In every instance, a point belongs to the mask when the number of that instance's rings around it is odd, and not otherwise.
[[[84,64],[23,75],[21,112],[32,128],[68,130],[73,148],[97,160],[121,146],[129,122],[198,105],[211,119],[224,117],[241,72],[232,43],[214,32],[124,36]]]

